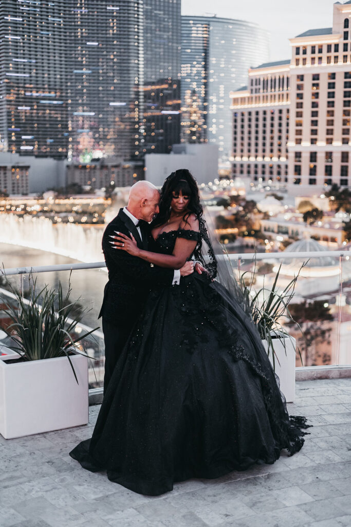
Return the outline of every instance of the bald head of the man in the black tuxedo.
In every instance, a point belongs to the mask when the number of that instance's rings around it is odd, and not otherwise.
[[[139,220],[151,221],[158,213],[159,192],[149,181],[137,181],[129,191],[127,209]]]

